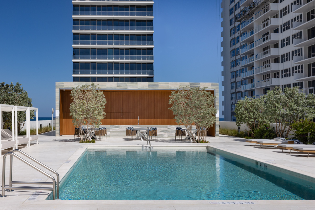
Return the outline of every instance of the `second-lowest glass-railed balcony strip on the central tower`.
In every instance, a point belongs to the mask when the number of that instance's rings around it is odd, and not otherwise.
[[[153,60],[153,55],[73,55],[73,60]]]

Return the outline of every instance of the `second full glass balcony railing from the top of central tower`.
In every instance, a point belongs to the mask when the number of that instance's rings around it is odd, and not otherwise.
[[[73,26],[72,30],[153,31],[153,26]]]

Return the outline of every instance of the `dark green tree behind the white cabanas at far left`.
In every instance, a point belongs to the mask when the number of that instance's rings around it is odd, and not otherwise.
[[[28,106],[32,107],[32,99],[28,97],[28,93],[23,90],[22,85],[16,82],[14,85],[0,83],[0,104],[8,104],[15,106]],[[30,117],[33,119],[34,111],[30,111]],[[18,133],[20,129],[24,126],[26,121],[26,111],[18,112]],[[12,113],[3,112],[3,128],[12,128]]]

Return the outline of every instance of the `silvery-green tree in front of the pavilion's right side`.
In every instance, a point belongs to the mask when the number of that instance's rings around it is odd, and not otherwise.
[[[187,129],[189,137],[194,143],[199,143],[192,135],[192,125],[195,124],[197,133],[204,141],[201,135],[201,129],[205,128],[205,132],[215,123],[215,95],[206,91],[207,87],[182,87],[177,91],[172,91],[169,96],[169,109],[175,115],[174,119],[178,125],[184,125]]]

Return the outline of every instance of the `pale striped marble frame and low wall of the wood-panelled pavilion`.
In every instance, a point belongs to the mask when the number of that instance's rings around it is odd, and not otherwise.
[[[72,87],[76,87],[79,85],[90,85],[92,82],[56,82],[56,110],[59,110],[60,101],[59,101],[59,93],[62,89],[72,89]],[[219,83],[210,83],[210,82],[94,82],[96,85],[100,87],[102,90],[177,90],[180,86],[190,86],[190,87],[207,87],[206,90],[214,90],[215,91],[215,107],[217,112],[219,113]],[[56,116],[56,136],[60,136],[60,119],[59,116]],[[219,137],[219,115],[216,116],[215,120],[215,137]],[[128,126],[122,127],[122,125],[107,125],[107,133],[112,130],[112,137],[119,134],[121,137],[126,134],[125,129]],[[135,127],[135,126],[133,126]],[[172,135],[174,133],[175,137],[175,127],[178,126],[149,126],[149,127],[157,127],[158,135],[160,133],[161,137],[166,137]],[[174,127],[174,129],[173,129]],[[124,129],[124,130],[122,130]],[[160,130],[160,132],[159,132]],[[172,132],[170,132],[172,131]],[[173,137],[173,136],[170,136]]]

